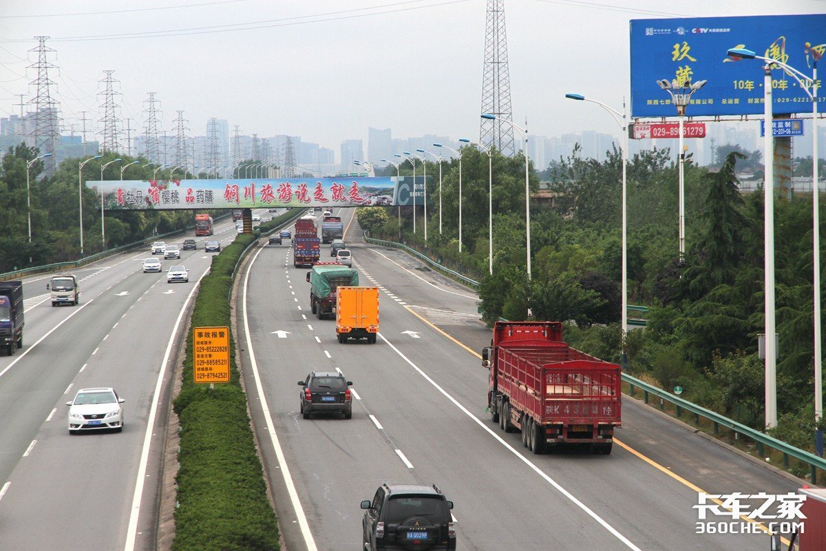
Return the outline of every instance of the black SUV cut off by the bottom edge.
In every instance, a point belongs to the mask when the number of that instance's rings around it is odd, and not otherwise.
[[[433,486],[382,484],[373,501],[361,502],[363,549],[396,551],[402,549],[456,549],[453,501]]]

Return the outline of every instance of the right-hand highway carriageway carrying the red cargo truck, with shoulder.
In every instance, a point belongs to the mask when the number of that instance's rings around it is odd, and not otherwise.
[[[353,210],[342,213],[347,224]],[[377,344],[339,344],[335,321],[311,316],[307,270],[292,267],[289,245],[259,249],[241,279],[244,377],[288,549],[358,549],[358,503],[382,482],[441,487],[458,549],[768,548],[765,534],[695,534],[698,492],[786,493],[800,482],[647,406],[624,400],[610,456],[535,456],[499,430],[485,411],[477,352],[491,331],[477,297],[406,254],[359,243],[356,226],[345,238],[360,283],[382,289]],[[311,369],[354,382],[352,420],[301,418],[297,382]]]

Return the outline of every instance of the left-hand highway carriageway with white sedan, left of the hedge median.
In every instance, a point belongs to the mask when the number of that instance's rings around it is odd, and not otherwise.
[[[0,550],[152,549],[183,312],[214,255],[204,241],[229,245],[235,235],[218,222],[197,250],[163,260],[164,270],[185,265],[189,283],[143,273],[148,248],[74,270],[79,306],[52,307],[49,276],[26,278],[23,349],[0,355]],[[114,387],[126,399],[121,433],[69,435],[64,402],[82,387]]]

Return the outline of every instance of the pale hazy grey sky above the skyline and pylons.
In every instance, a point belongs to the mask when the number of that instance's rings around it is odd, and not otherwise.
[[[51,36],[64,122],[99,130],[104,69],[122,116],[144,125],[147,92],[171,131],[207,118],[242,134],[300,135],[339,153],[368,126],[393,137],[479,135],[486,0],[0,0],[0,116],[33,94],[33,36]],[[529,132],[617,133],[584,93],[620,108],[629,94],[629,20],[826,12],[824,0],[506,0],[513,116]],[[216,32],[221,31],[221,32]],[[148,34],[149,33],[149,34]],[[162,35],[162,36],[157,36]],[[27,99],[31,97],[27,96]],[[90,138],[91,139],[91,138]]]

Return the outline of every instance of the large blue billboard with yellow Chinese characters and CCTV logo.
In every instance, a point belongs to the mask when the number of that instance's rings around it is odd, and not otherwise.
[[[708,81],[691,96],[686,116],[762,114],[763,62],[730,59],[731,48],[811,75],[826,51],[826,14],[632,20],[631,116],[676,116],[671,96],[657,85],[662,79]],[[811,112],[811,99],[785,71],[772,71],[771,88],[775,114]]]

